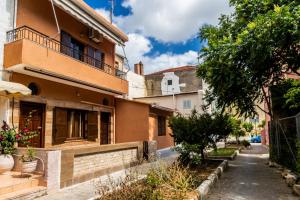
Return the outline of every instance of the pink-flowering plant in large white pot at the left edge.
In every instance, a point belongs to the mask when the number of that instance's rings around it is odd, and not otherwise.
[[[31,118],[31,113],[25,123],[25,128],[17,131],[16,128],[10,128],[8,124],[3,121],[3,126],[0,131],[0,174],[12,170],[14,167],[14,154],[17,142],[27,144],[28,141],[37,135],[37,132],[30,131],[28,124]]]

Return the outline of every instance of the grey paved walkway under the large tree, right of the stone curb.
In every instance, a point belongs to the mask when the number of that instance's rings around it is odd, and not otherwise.
[[[280,172],[266,165],[268,151],[252,144],[234,161],[210,192],[209,200],[296,200]]]

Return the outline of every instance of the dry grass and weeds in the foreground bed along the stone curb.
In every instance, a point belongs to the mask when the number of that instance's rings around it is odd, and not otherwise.
[[[178,163],[171,166],[159,163],[151,168],[146,177],[137,179],[136,175],[128,176],[119,183],[99,186],[101,200],[182,200],[190,199],[195,189],[219,165],[219,162],[208,162],[197,168],[183,167]],[[134,174],[134,173],[133,173]]]

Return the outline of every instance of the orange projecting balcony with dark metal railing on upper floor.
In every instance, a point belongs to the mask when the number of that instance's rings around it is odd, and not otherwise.
[[[26,26],[7,32],[4,67],[116,94],[128,92],[128,82],[118,69]]]

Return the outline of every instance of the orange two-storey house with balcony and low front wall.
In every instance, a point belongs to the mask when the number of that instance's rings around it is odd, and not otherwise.
[[[5,96],[4,118],[22,129],[32,115],[29,128],[39,134],[30,145],[45,165],[39,185],[55,191],[136,164],[149,140],[173,145],[171,109],[124,99],[128,81],[115,48],[128,37],[120,29],[82,0],[0,5],[12,20],[0,24],[3,71],[26,95]]]

